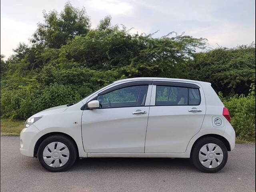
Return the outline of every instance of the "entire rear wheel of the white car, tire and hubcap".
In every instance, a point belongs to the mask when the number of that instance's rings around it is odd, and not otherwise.
[[[225,166],[228,160],[228,150],[219,139],[205,137],[194,145],[191,159],[194,166],[200,171],[213,173]]]

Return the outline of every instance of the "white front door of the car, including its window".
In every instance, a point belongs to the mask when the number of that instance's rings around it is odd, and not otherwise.
[[[103,90],[91,100],[100,108],[82,114],[82,139],[90,153],[144,153],[152,81]]]

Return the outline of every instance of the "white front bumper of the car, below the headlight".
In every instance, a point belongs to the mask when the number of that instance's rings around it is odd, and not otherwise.
[[[43,133],[33,124],[20,132],[20,153],[28,157],[34,157],[34,147]]]

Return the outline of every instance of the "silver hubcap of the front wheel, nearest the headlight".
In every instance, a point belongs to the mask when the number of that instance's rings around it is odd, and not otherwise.
[[[43,151],[44,162],[50,167],[61,167],[68,162],[69,150],[62,142],[52,142]]]

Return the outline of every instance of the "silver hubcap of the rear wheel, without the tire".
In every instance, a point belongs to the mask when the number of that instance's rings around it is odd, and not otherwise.
[[[206,168],[216,168],[223,160],[223,151],[220,146],[208,143],[202,146],[198,157],[200,163]]]

